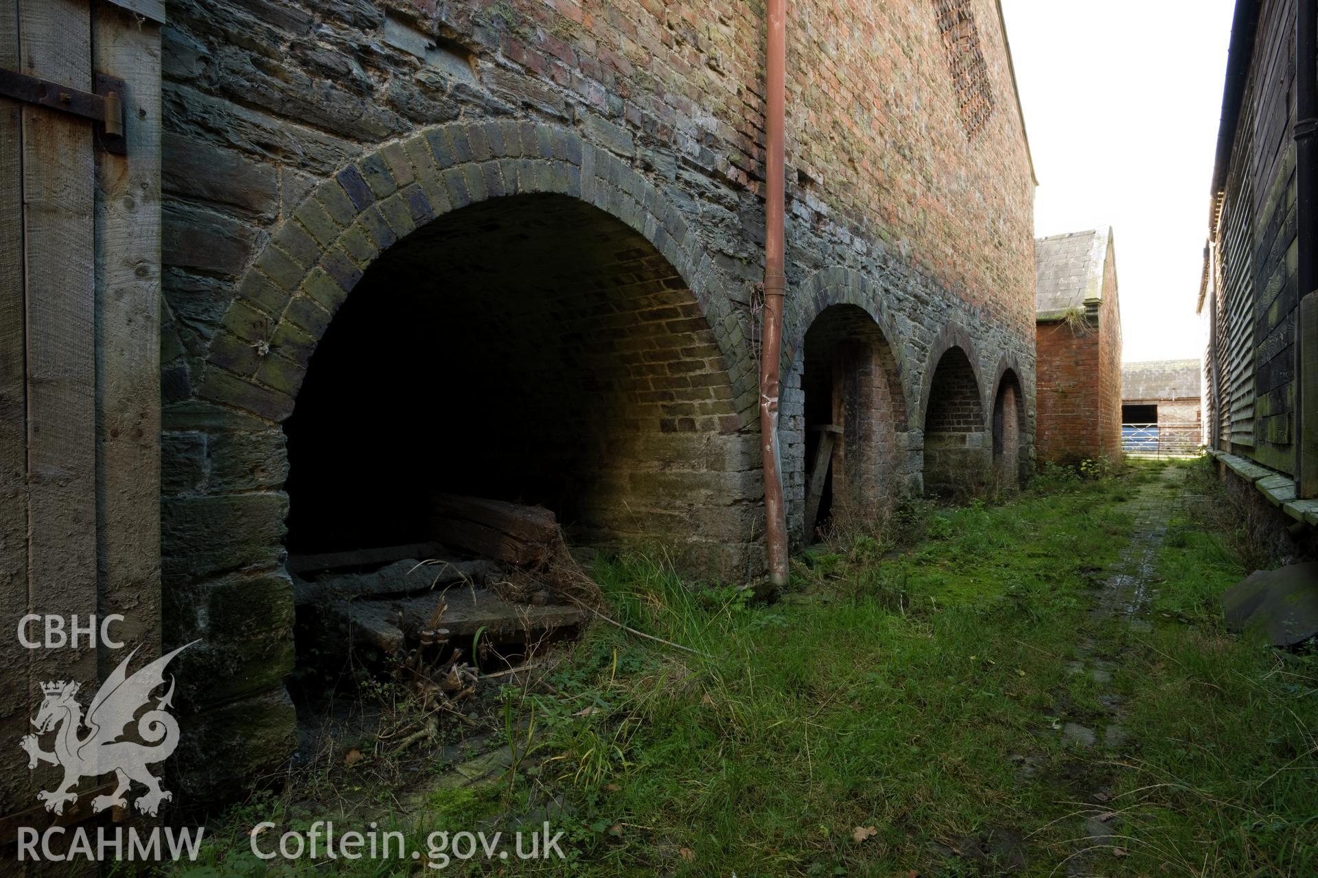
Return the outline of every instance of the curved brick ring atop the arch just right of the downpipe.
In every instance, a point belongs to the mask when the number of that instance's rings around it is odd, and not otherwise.
[[[905,430],[912,423],[913,387],[911,386],[911,367],[907,359],[905,348],[899,342],[896,321],[888,311],[882,291],[865,274],[854,269],[834,266],[820,269],[803,283],[797,295],[788,295],[788,308],[784,315],[783,326],[783,373],[787,374],[805,344],[805,333],[811,324],[826,308],[833,305],[855,305],[870,315],[883,333],[883,340],[888,342],[892,361],[896,363],[896,379],[902,387],[902,403],[904,407],[904,420],[896,425],[899,432]]]

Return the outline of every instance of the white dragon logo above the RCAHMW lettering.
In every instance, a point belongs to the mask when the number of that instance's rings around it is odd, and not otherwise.
[[[174,798],[171,792],[161,788],[159,778],[146,769],[149,762],[167,760],[178,746],[178,721],[165,711],[166,707],[173,707],[170,703],[174,696],[173,675],[169,691],[156,703],[154,710],[137,717],[137,736],[145,744],[119,738],[128,732],[138,710],[150,704],[152,691],[165,684],[165,666],[191,645],[185,644],[167,656],[161,656],[129,677],[128,662],[137,654],[134,649],[101,683],[96,698],[91,700],[86,719],[82,715],[82,706],[74,700],[79,683],[61,681],[41,684],[45,700],[37,711],[37,719],[32,720],[37,727],[37,735],[25,735],[20,745],[28,752],[28,769],[36,769],[42,762],[65,769],[65,779],[59,786],[37,794],[37,799],[46,803],[46,811],[63,813],[65,803],[78,799],[72,788],[78,786],[79,779],[111,771],[115,773],[117,786],[108,795],[92,799],[92,811],[128,807],[124,794],[133,781],[146,787],[146,794],[137,796],[136,802],[137,810],[142,813],[156,816],[161,802]],[[87,735],[79,737],[83,727],[88,729]],[[46,753],[37,738],[54,729],[58,729],[54,752]]]

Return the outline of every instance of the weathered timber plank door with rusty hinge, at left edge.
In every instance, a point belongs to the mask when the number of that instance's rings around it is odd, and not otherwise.
[[[128,649],[159,649],[162,20],[161,0],[0,0],[0,819],[9,833],[16,819],[43,820],[36,791],[58,777],[49,765],[29,771],[17,746],[40,683],[75,679],[95,692]],[[95,96],[108,93],[98,121]],[[25,648],[29,613],[63,617],[66,634],[74,615],[86,627],[121,613],[111,633],[125,649],[86,634],[72,648]],[[42,629],[26,633],[42,640]]]

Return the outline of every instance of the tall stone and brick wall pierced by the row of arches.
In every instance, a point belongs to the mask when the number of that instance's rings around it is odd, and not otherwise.
[[[793,7],[788,30],[784,424],[808,328],[855,305],[882,330],[890,396],[904,400],[895,490],[919,491],[945,328],[969,328],[977,375],[1010,358],[1033,409],[1033,190],[1000,16],[988,0],[815,3]],[[207,760],[185,766],[190,795],[237,788],[291,752],[282,559],[302,488],[283,424],[303,379],[318,380],[323,337],[337,349],[324,362],[352,371],[356,351],[381,400],[416,399],[377,415],[399,434],[449,415],[444,394],[390,380],[418,323],[435,328],[436,357],[455,351],[436,387],[497,382],[521,399],[556,374],[572,391],[564,420],[584,421],[571,405],[592,392],[584,376],[598,379],[606,429],[548,430],[550,445],[585,436],[583,448],[618,453],[593,480],[598,502],[579,509],[581,532],[692,546],[699,521],[697,571],[755,575],[762,4],[178,0],[163,46],[166,641],[206,644],[182,669],[185,750]],[[600,246],[625,244],[579,279],[581,296],[564,271],[542,283],[523,263],[514,276],[461,238],[525,225],[525,197],[580,203],[565,226],[579,245],[596,232]],[[399,257],[414,233],[428,246]],[[548,240],[543,224],[526,234]],[[456,276],[442,269],[472,274],[436,294],[442,307],[422,303],[410,287]],[[515,307],[471,304],[494,269]],[[386,300],[399,290],[411,295]],[[360,312],[373,312],[374,344],[335,341],[349,294],[382,300]],[[580,338],[540,350],[554,370],[539,375],[514,342],[548,316]],[[510,373],[464,371],[481,338],[521,351]],[[977,390],[991,411],[995,384]],[[290,430],[301,441],[297,420]],[[1027,415],[1027,448],[1032,430]],[[784,440],[800,491],[804,446]],[[660,495],[641,525],[616,513]]]

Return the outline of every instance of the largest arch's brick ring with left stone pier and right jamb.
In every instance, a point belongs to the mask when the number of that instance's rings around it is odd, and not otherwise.
[[[663,527],[693,534],[683,546],[691,569],[738,582],[762,571],[757,409],[737,403],[747,382],[754,390],[755,367],[735,359],[733,351],[746,349],[730,338],[737,317],[687,221],[638,171],[571,129],[513,120],[426,128],[341,167],[273,230],[239,276],[207,350],[195,392],[204,425],[166,440],[165,467],[186,483],[162,503],[166,640],[202,640],[181,659],[181,704],[185,716],[198,717],[183,720],[182,786],[207,795],[223,794],[225,785],[236,791],[241,777],[273,769],[294,746],[283,690],[294,665],[283,425],[335,313],[355,288],[373,283],[386,251],[427,228],[460,222],[469,216],[464,209],[488,219],[488,209],[527,200],[580,205],[579,213],[625,232],[629,247],[646,249],[619,257],[623,262],[668,266],[660,276],[672,284],[642,282],[655,284],[645,294],[655,300],[646,305],[647,342],[668,330],[700,336],[683,342],[681,357],[702,366],[673,371],[666,387],[689,375],[692,391],[710,390],[710,405],[688,415],[676,411],[684,404],[677,396],[662,424],[655,417],[643,430],[631,429],[631,459],[656,463],[613,467],[605,490],[621,484],[671,498],[650,512]],[[654,313],[666,296],[685,297],[677,315]],[[709,386],[695,383],[700,371],[710,373]],[[641,401],[673,399],[666,394],[655,387],[655,399]],[[660,466],[673,459],[683,466]],[[597,512],[596,521],[604,509]],[[613,521],[634,517],[622,509]],[[679,552],[672,557],[681,563]]]

